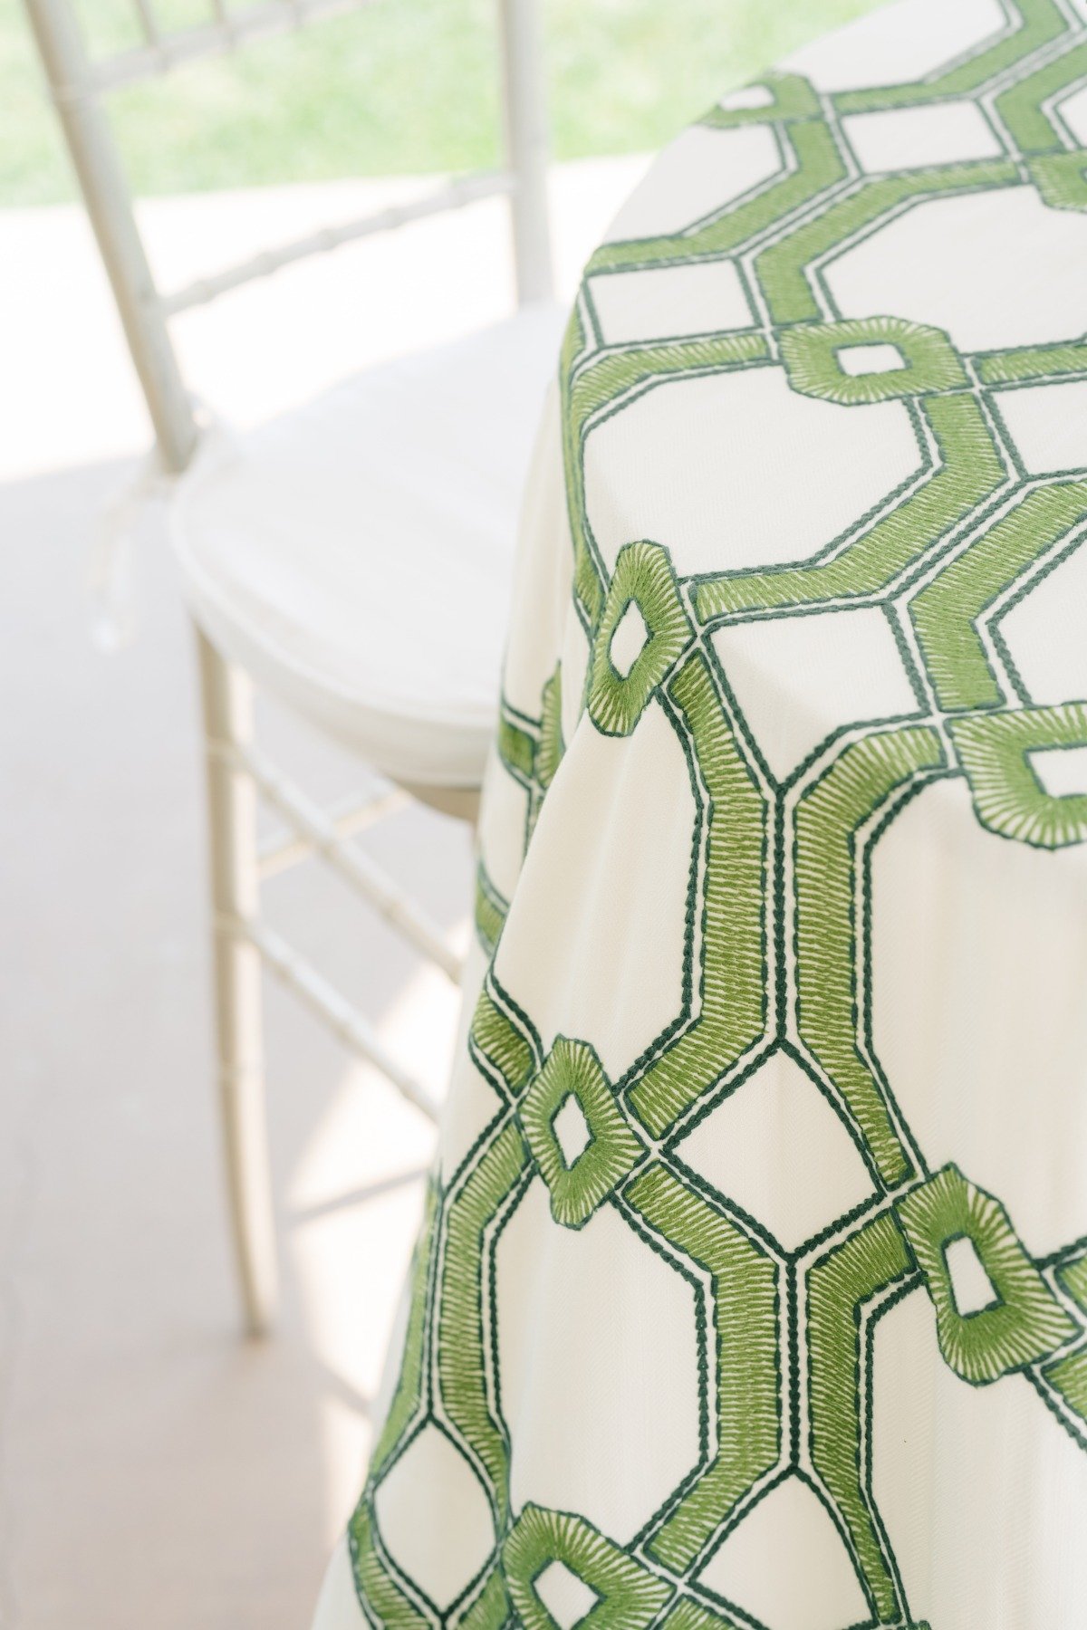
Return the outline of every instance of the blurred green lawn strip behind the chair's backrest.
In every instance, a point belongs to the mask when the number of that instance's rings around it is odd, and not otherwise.
[[[90,47],[139,42],[125,0],[81,0]],[[163,26],[205,0],[160,0]],[[549,0],[557,161],[652,152],[722,95],[872,0]],[[491,0],[396,0],[116,103],[137,192],[469,170],[494,161]],[[73,196],[20,0],[0,0],[0,204]]]

